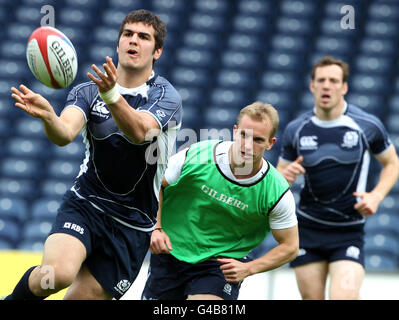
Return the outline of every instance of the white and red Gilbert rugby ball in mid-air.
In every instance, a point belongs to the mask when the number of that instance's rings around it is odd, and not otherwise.
[[[78,70],[72,42],[53,27],[39,27],[33,31],[28,40],[26,59],[36,79],[53,89],[69,86]]]

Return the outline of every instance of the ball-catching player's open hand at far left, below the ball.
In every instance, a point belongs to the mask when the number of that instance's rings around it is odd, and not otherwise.
[[[11,96],[17,101],[15,105],[35,118],[49,119],[55,112],[51,104],[38,93],[21,84],[17,88],[12,87]]]

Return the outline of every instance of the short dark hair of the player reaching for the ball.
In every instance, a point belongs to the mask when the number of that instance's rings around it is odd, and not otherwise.
[[[119,39],[121,38],[121,35],[123,33],[123,29],[125,28],[125,24],[134,22],[143,22],[144,24],[151,25],[155,30],[155,50],[163,47],[166,37],[165,23],[155,13],[144,9],[134,10],[130,12],[122,21],[118,35],[118,45]]]

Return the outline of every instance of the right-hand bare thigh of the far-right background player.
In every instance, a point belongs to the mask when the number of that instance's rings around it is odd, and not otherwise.
[[[329,264],[330,299],[359,299],[360,287],[364,278],[363,266],[351,260],[339,260]]]

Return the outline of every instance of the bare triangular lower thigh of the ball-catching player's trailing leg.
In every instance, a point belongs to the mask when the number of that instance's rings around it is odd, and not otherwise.
[[[64,296],[64,300],[111,300],[112,296],[105,291],[100,283],[83,264],[74,282]]]

